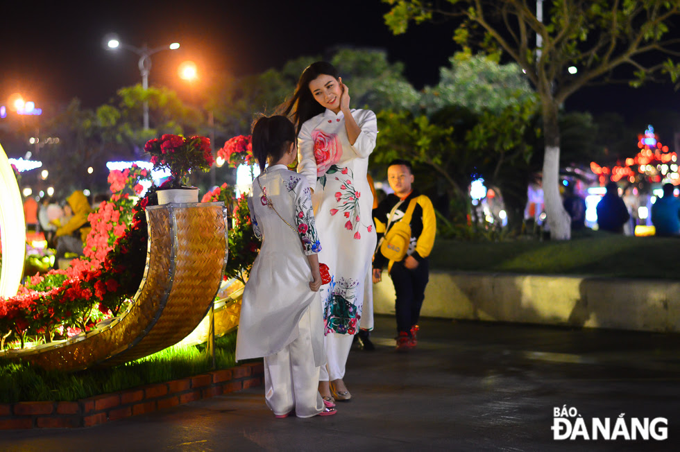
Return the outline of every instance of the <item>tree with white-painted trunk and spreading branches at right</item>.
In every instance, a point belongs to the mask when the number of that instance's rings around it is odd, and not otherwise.
[[[541,101],[543,190],[553,238],[570,238],[559,196],[559,105],[593,83],[639,86],[661,76],[679,82],[680,63],[671,57],[679,54],[680,40],[668,32],[680,0],[554,0],[545,2],[543,21],[526,0],[383,1],[391,5],[384,18],[393,33],[405,33],[411,21],[453,19],[454,40],[465,51],[502,51],[525,70]],[[568,72],[570,66],[578,68],[577,75]]]

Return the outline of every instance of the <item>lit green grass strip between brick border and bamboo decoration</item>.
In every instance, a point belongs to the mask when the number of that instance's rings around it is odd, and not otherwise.
[[[215,340],[216,369],[235,365],[235,348],[236,332]],[[212,359],[205,345],[173,346],[125,365],[74,373],[45,371],[28,363],[0,359],[0,402],[74,401],[210,370]]]

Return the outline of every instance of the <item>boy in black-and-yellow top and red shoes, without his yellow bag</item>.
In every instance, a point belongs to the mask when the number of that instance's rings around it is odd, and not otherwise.
[[[398,223],[409,208],[415,203],[411,216],[411,243],[406,257],[402,261],[389,261],[380,252],[380,246],[373,258],[373,282],[382,279],[382,268],[387,264],[394,290],[396,292],[395,311],[397,317],[397,350],[406,351],[416,347],[416,332],[420,307],[425,299],[425,286],[430,277],[430,265],[427,259],[432,252],[436,234],[436,217],[432,201],[413,189],[414,175],[411,163],[407,160],[393,160],[387,168],[387,180],[394,193],[390,194],[373,209],[375,232],[378,242],[386,234],[386,227]],[[395,208],[396,207],[396,208]],[[390,221],[391,217],[391,221]]]

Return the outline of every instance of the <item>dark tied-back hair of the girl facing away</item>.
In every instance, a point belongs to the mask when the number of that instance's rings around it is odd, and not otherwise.
[[[264,171],[268,157],[277,162],[294,142],[295,128],[286,116],[262,116],[253,124],[253,157],[260,171]]]

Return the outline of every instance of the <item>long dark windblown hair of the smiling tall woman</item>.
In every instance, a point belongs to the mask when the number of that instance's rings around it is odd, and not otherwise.
[[[296,134],[300,133],[300,129],[307,119],[313,118],[325,111],[325,108],[316,102],[312,92],[309,91],[309,82],[321,75],[332,76],[337,80],[340,73],[329,62],[317,61],[309,64],[300,76],[300,80],[298,80],[298,86],[293,97],[284,103],[282,114],[291,116],[292,112]]]

